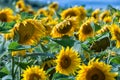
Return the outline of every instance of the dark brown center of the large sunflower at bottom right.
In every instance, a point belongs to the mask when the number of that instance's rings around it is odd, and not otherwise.
[[[93,68],[88,71],[86,75],[86,79],[87,80],[105,80],[105,75],[101,70],[97,68]]]

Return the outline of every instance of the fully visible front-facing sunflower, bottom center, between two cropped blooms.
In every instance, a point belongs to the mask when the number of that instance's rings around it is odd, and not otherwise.
[[[73,48],[67,47],[66,50],[62,47],[56,59],[56,72],[70,75],[74,74],[80,66],[80,58],[78,53]]]

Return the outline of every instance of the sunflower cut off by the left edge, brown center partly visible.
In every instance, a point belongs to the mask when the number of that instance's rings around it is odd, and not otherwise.
[[[0,10],[0,21],[11,22],[15,20],[16,17],[13,15],[13,10],[10,8],[5,8]]]

